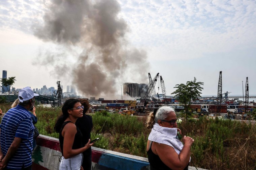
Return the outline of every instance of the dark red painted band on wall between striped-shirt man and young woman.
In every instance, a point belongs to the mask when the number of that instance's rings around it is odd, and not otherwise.
[[[39,146],[42,146],[42,147],[50,148],[50,149],[61,152],[60,143],[59,143],[59,141],[56,141],[56,140],[38,136],[36,138],[36,144]]]

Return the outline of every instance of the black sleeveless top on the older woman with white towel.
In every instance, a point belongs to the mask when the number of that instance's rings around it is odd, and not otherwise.
[[[148,159],[150,163],[150,170],[171,170],[168,166],[166,166],[161,159],[159,158],[158,155],[154,154],[152,149],[151,149],[152,141],[150,141],[149,144],[149,150],[147,151],[148,154]],[[188,166],[184,170],[188,170]]]

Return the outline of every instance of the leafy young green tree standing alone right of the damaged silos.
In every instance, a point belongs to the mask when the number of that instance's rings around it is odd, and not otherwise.
[[[184,106],[186,113],[186,120],[188,120],[189,107],[191,105],[191,101],[201,97],[200,94],[203,88],[201,87],[203,82],[196,82],[196,77],[194,77],[194,81],[187,81],[186,84],[176,84],[174,88],[176,91],[171,93],[174,94],[175,98],[178,98],[181,105]]]

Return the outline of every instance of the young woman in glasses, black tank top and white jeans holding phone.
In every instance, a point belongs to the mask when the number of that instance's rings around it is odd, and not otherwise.
[[[78,118],[83,117],[84,106],[77,99],[68,99],[62,106],[62,115],[57,119],[55,130],[59,133],[62,159],[60,170],[83,170],[83,152],[93,144],[88,143],[83,146],[82,133],[75,126]]]

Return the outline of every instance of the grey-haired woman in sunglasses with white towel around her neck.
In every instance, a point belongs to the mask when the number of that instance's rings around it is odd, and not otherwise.
[[[177,139],[175,111],[167,106],[160,107],[156,112],[150,113],[147,123],[147,128],[151,129],[147,144],[150,169],[188,169],[194,139],[184,136],[184,145]]]

